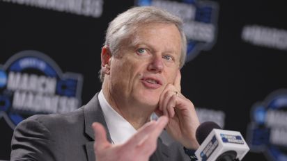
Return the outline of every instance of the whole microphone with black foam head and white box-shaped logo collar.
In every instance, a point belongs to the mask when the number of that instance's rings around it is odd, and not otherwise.
[[[201,145],[195,152],[199,161],[239,161],[249,151],[240,132],[222,130],[212,121],[197,128],[196,140]]]

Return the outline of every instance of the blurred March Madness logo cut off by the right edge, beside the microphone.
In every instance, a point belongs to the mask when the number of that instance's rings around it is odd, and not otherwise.
[[[247,134],[251,151],[264,153],[269,160],[287,161],[287,90],[255,103]]]

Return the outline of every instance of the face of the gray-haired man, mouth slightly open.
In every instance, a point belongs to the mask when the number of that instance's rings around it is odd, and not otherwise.
[[[109,92],[132,105],[157,107],[179,70],[181,37],[174,24],[144,24],[111,57]]]

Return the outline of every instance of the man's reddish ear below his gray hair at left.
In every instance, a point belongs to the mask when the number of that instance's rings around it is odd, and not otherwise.
[[[104,45],[102,47],[101,60],[102,71],[104,72],[104,74],[109,74],[109,71],[111,69],[111,51],[109,49],[109,46],[107,45]]]

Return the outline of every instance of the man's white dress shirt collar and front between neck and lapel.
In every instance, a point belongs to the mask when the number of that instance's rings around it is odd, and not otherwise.
[[[134,133],[137,132],[136,129],[121,115],[111,108],[111,105],[104,98],[102,90],[98,95],[100,101],[100,106],[102,112],[104,112],[104,119],[107,123],[107,128],[109,129],[109,134],[111,135],[111,141],[114,144],[121,144],[129,139]]]

